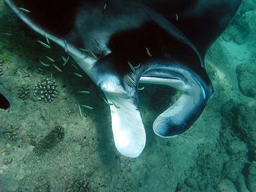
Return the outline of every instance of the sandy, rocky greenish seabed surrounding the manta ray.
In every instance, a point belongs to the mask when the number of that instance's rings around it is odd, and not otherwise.
[[[208,50],[215,93],[184,134],[164,139],[152,130],[181,93],[141,84],[147,142],[134,159],[116,150],[102,91],[81,69],[84,77],[74,76],[75,64],[62,73],[42,65],[45,55],[63,62],[67,53],[38,38],[0,0],[0,93],[10,103],[0,109],[0,192],[256,192],[255,0],[242,1]],[[53,100],[38,100],[40,84],[55,87]],[[82,108],[83,119],[78,102],[93,107]]]

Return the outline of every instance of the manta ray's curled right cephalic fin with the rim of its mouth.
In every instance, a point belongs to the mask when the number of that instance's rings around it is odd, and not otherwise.
[[[172,65],[169,66],[169,63]],[[201,76],[198,76],[193,70],[188,70],[186,64],[171,58],[158,59],[154,67],[143,74],[141,83],[165,84],[183,92],[177,102],[155,119],[155,134],[160,137],[178,136],[198,119],[213,94],[209,79],[201,78],[204,75],[205,71],[201,71]]]

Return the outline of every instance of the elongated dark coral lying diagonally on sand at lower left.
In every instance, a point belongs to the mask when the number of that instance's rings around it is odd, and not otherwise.
[[[61,141],[64,137],[64,131],[63,128],[59,125],[55,126],[55,128],[50,131],[47,136],[42,138],[36,145],[35,148],[33,148],[33,153],[35,155],[41,155],[44,154],[46,149],[51,148],[56,143]]]

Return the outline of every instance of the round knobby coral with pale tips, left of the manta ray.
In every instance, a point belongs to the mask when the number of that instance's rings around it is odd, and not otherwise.
[[[58,94],[58,84],[56,84],[54,80],[51,81],[49,78],[43,78],[35,84],[33,92],[38,100],[50,103]]]

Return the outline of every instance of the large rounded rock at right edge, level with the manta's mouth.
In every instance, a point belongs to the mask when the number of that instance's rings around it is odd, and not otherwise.
[[[239,90],[248,97],[256,98],[256,65],[242,63],[236,66]]]

